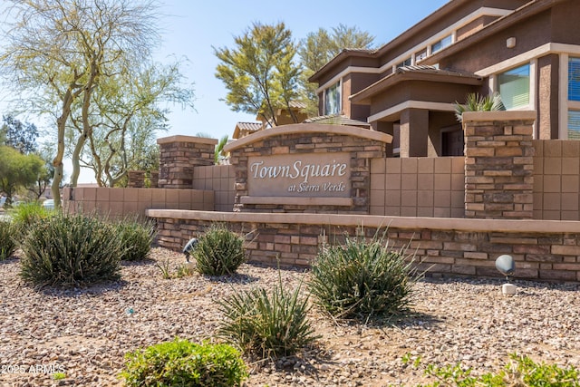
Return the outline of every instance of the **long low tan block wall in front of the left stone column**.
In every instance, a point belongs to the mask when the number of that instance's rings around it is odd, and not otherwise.
[[[66,188],[63,207],[72,212],[98,211],[113,217],[145,215],[149,208],[214,210],[214,192],[199,189]]]

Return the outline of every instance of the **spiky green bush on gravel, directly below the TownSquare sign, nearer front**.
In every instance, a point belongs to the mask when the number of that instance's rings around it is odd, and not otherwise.
[[[286,291],[280,280],[270,293],[255,288],[222,300],[225,315],[219,334],[245,353],[266,357],[297,353],[314,342],[314,330],[307,319],[308,298],[301,298],[302,284]]]

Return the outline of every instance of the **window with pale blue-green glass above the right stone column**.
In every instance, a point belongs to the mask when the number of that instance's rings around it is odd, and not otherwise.
[[[529,104],[529,64],[498,75],[499,94],[506,110]]]

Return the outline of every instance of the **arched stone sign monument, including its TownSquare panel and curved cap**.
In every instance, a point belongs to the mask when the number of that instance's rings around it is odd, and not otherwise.
[[[258,131],[224,149],[236,169],[234,211],[369,213],[371,160],[388,134],[322,124]]]

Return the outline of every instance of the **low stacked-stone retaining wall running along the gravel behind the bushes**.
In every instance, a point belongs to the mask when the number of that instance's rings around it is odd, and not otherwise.
[[[234,214],[230,214],[234,215]],[[253,214],[247,214],[252,216]],[[213,220],[157,218],[160,246],[180,250],[190,237],[198,237]],[[498,231],[473,230],[454,220],[437,227],[438,219],[420,219],[424,227],[398,226],[396,218],[353,217],[344,224],[320,219],[319,224],[232,221],[227,226],[246,235],[247,258],[251,262],[282,266],[308,266],[324,243],[337,243],[344,232],[350,236],[373,237],[376,224],[382,223],[379,235],[389,239],[393,248],[407,247],[417,266],[428,276],[500,276],[495,267],[498,256],[508,254],[516,260],[515,277],[543,281],[580,281],[579,232],[521,232],[517,226],[498,226]],[[478,219],[474,219],[478,220]],[[486,220],[492,221],[492,220]],[[364,228],[354,226],[363,224]],[[501,221],[500,221],[501,222]],[[493,227],[492,227],[493,228]],[[511,231],[507,229],[513,228]],[[577,227],[576,227],[577,228]]]

